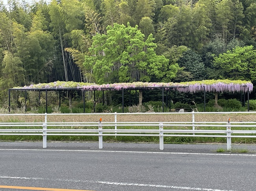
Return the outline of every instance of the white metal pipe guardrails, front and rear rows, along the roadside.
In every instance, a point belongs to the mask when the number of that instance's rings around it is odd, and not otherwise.
[[[184,115],[190,114],[191,122],[117,122],[118,115]],[[231,149],[231,138],[256,138],[256,120],[250,122],[195,122],[195,114],[250,114],[256,118],[256,112],[184,112],[184,113],[79,113],[79,114],[0,114],[1,117],[15,116],[44,116],[44,122],[0,122],[0,135],[38,135],[43,136],[43,148],[46,148],[47,136],[98,136],[99,149],[103,148],[102,136],[159,136],[159,149],[163,150],[164,136],[183,136],[183,137],[224,137],[227,140],[227,150]],[[47,122],[47,116],[54,115],[113,115],[114,122]],[[129,118],[129,117],[127,117]],[[2,120],[3,121],[3,120]],[[236,125],[232,125],[236,124]],[[159,127],[159,129],[119,129],[117,127],[143,126]],[[197,127],[222,127],[225,130],[197,130]],[[6,129],[4,129],[6,127]],[[33,129],[15,129],[15,127],[34,127]],[[38,127],[38,128],[37,128]],[[42,127],[42,128],[39,128]],[[56,127],[56,129],[47,129]],[[61,129],[58,129],[61,127]],[[63,129],[64,127],[87,127],[84,129]],[[91,129],[88,129],[91,127]],[[93,127],[96,127],[96,129]],[[115,129],[104,129],[104,127],[115,127]],[[171,127],[186,127],[187,129],[167,129]],[[231,130],[232,127],[254,127],[254,130]],[[165,129],[166,128],[166,129]],[[189,129],[191,128],[191,129]],[[134,133],[134,134],[130,134]],[[182,133],[182,134],[180,134]],[[186,133],[186,134],[184,134]],[[235,134],[245,135],[235,135]],[[207,135],[200,135],[207,134]],[[215,134],[215,135],[209,135]],[[223,134],[223,135],[216,135]]]

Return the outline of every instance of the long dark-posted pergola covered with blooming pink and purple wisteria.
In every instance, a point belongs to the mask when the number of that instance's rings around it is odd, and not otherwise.
[[[82,91],[83,92],[83,113],[85,113],[85,91],[94,91],[94,101],[95,101],[95,91],[102,91],[103,94],[103,104],[104,104],[104,91],[122,91],[122,112],[124,113],[124,90],[129,90],[130,102],[131,102],[131,90],[150,90],[159,89],[162,91],[162,111],[164,112],[164,90],[167,92],[171,89],[180,92],[197,93],[204,92],[204,111],[206,107],[206,92],[243,92],[248,93],[247,107],[249,111],[249,93],[252,91],[253,85],[249,81],[242,80],[202,80],[194,82],[182,82],[182,83],[152,83],[152,82],[133,82],[133,83],[115,83],[115,84],[91,84],[83,82],[51,82],[45,84],[32,84],[24,87],[14,87],[9,89],[9,112],[11,108],[11,91],[24,91],[25,92],[25,103],[27,101],[27,91],[38,91],[39,100],[41,96],[41,91],[45,91],[45,101],[46,101],[46,113],[47,113],[47,92],[48,91],[58,91],[59,92],[59,106],[61,105],[61,91]],[[244,94],[245,96],[245,94]],[[170,101],[170,100],[169,100]],[[166,100],[167,102],[167,100]]]

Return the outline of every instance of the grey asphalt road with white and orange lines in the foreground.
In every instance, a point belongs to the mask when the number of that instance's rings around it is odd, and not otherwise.
[[[0,191],[255,191],[252,153],[225,145],[0,142]],[[15,187],[17,186],[17,187]],[[6,187],[6,188],[4,188]],[[30,188],[28,188],[30,187]],[[55,189],[47,189],[55,188]]]

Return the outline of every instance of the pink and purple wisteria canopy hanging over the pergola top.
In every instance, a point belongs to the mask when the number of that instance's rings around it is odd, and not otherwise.
[[[40,89],[40,88],[76,88],[85,90],[121,90],[121,89],[134,89],[134,88],[146,88],[146,89],[156,89],[156,88],[168,88],[174,87],[180,92],[190,92],[196,93],[199,91],[207,92],[238,92],[238,91],[252,91],[253,85],[249,81],[242,80],[202,80],[193,82],[181,82],[181,83],[164,83],[164,82],[133,82],[133,83],[115,83],[115,84],[92,84],[83,82],[51,82],[43,84],[31,84],[24,87],[14,87],[14,89]]]

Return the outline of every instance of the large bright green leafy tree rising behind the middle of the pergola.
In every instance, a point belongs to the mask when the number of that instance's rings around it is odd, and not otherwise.
[[[154,38],[144,35],[138,26],[114,24],[107,27],[106,35],[93,37],[91,56],[85,56],[85,68],[92,69],[99,84],[117,82],[150,81],[151,77],[162,78],[168,60],[157,56]],[[109,76],[111,78],[109,78]]]

